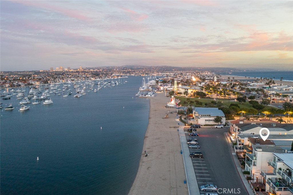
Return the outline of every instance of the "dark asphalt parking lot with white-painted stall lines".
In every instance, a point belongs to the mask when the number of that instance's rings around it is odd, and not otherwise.
[[[197,129],[200,136],[196,138],[200,149],[190,149],[190,153],[197,150],[203,154],[202,159],[192,159],[197,183],[199,187],[210,183],[217,185],[218,189],[233,189],[235,193],[229,194],[237,194],[239,189],[241,195],[246,195],[248,193],[236,170],[229,143],[224,135],[227,131],[227,128]]]

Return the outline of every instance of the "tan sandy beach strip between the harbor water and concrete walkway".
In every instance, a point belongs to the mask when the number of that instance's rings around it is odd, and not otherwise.
[[[156,93],[155,97],[149,98],[149,125],[130,195],[188,194],[187,184],[184,184],[186,175],[175,121],[176,109],[165,108],[170,98],[164,95],[165,93]],[[163,119],[166,114],[169,118]],[[149,156],[145,157],[144,150]]]

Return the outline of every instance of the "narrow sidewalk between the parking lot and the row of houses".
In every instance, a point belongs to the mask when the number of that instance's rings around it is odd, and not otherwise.
[[[229,142],[229,145],[230,145],[230,152],[231,152],[231,155],[232,155],[232,157],[233,157],[235,167],[236,167],[236,169],[237,169],[237,171],[238,171],[238,174],[239,174],[239,176],[240,176],[240,178],[241,178],[241,180],[242,180],[242,182],[243,182],[244,187],[246,188],[247,194],[249,194],[249,195],[254,195],[254,193],[253,193],[251,187],[250,187],[249,184],[248,184],[247,179],[246,179],[246,178],[244,177],[244,175],[243,175],[243,172],[242,172],[242,169],[241,169],[241,167],[240,167],[240,163],[239,163],[239,160],[238,160],[238,158],[237,158],[237,155],[236,155],[235,151],[234,151],[233,148],[232,148],[233,143],[231,142],[228,133],[224,133],[224,134],[225,134],[225,136],[226,136],[226,138],[227,138],[227,141]]]

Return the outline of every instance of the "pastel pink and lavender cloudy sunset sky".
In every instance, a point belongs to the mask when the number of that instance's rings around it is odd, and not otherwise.
[[[293,1],[0,1],[0,70],[293,71]]]

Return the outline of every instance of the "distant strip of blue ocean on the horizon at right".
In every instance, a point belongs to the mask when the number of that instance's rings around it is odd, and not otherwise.
[[[231,74],[229,74],[231,73]],[[293,81],[293,70],[291,71],[231,71],[221,72],[219,74],[230,75],[230,76],[246,76],[250,79],[256,78],[273,78],[274,80],[280,80],[283,77],[283,81]],[[275,77],[275,78],[274,78]]]

